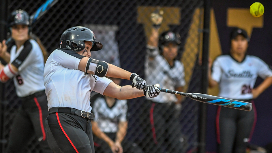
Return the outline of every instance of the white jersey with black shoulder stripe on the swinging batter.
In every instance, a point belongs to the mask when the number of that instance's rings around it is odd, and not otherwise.
[[[103,95],[112,82],[108,78],[86,74],[78,70],[81,56],[60,48],[48,57],[44,68],[44,85],[48,107],[71,107],[91,112],[90,92]]]

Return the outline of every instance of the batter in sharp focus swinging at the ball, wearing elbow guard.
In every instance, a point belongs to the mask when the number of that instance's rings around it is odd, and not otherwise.
[[[48,144],[53,152],[94,153],[90,93],[117,99],[156,97],[160,90],[147,86],[135,73],[90,58],[102,48],[93,31],[72,27],[61,35],[60,48],[48,57],[44,69],[49,115],[46,119]],[[131,86],[118,86],[104,76],[132,80]],[[140,90],[138,90],[138,89]],[[146,88],[145,90],[142,90]],[[112,146],[116,149],[117,146]]]

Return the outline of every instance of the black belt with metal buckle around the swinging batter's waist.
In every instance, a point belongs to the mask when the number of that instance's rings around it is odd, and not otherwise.
[[[53,114],[53,113],[68,113],[68,114],[74,114],[74,115],[78,115],[83,118],[89,118],[89,119],[93,119],[95,117],[94,114],[92,114],[92,113],[85,112],[85,111],[75,109],[75,108],[70,108],[70,107],[49,108],[49,114]]]

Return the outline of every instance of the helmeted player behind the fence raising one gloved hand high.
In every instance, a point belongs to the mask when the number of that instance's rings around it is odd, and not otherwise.
[[[184,66],[177,59],[180,36],[172,31],[159,36],[160,22],[156,22],[162,18],[159,13],[157,10],[151,14],[154,25],[147,41],[145,80],[147,84],[156,82],[163,88],[182,92],[185,85]],[[142,123],[142,127],[145,127],[143,135],[147,135],[140,143],[144,152],[158,153],[167,150],[182,153],[187,150],[179,123],[181,100],[181,96],[164,92],[153,99],[147,98],[144,104],[146,106],[142,107],[142,118],[145,118]]]

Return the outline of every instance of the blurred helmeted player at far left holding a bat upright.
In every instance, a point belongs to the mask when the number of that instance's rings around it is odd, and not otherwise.
[[[43,152],[52,152],[46,141],[45,118],[48,115],[44,92],[44,56],[38,44],[31,39],[29,15],[23,10],[12,12],[8,18],[11,41],[7,47],[0,43],[0,57],[7,65],[0,64],[0,81],[14,80],[16,93],[22,106],[14,118],[6,152],[22,152],[26,143],[36,135]],[[9,53],[10,52],[10,53]]]

